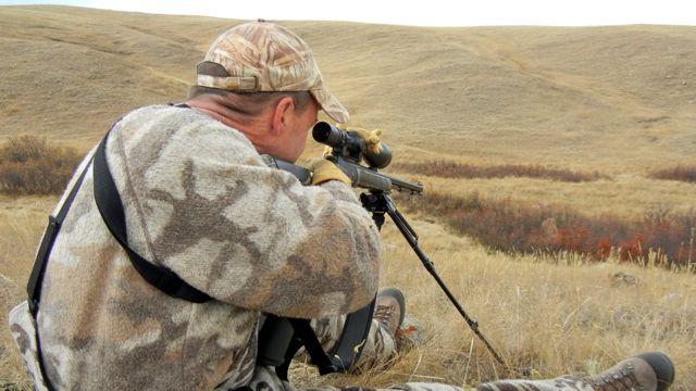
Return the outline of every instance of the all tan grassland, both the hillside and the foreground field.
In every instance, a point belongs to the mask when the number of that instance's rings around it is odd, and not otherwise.
[[[130,109],[183,100],[209,42],[238,21],[0,7],[0,137],[46,136],[86,151]],[[380,127],[399,160],[543,164],[600,172],[592,182],[421,178],[582,213],[696,209],[696,185],[648,179],[696,164],[696,27],[423,28],[286,23],[313,48],[351,123]],[[320,147],[312,143],[307,154]],[[408,176],[408,173],[397,173]],[[0,197],[0,311],[23,300],[54,197]],[[693,275],[610,262],[492,253],[437,222],[414,220],[436,267],[513,367],[533,377],[596,373],[645,350],[668,352],[678,390],[696,389]],[[473,384],[505,377],[393,227],[384,285],[401,288],[426,343],[383,373],[301,384]],[[559,261],[560,260],[560,261]],[[639,277],[617,283],[616,272]],[[0,384],[26,381],[0,327]]]

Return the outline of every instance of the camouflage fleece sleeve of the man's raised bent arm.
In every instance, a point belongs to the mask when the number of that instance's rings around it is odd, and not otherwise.
[[[178,131],[153,159],[128,156],[136,141],[121,142],[147,252],[189,285],[244,308],[303,318],[349,313],[374,298],[377,230],[348,186],[304,187],[266,167],[226,127]]]

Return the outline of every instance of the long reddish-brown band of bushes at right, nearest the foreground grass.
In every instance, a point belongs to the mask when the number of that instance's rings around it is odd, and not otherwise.
[[[456,231],[508,253],[571,252],[596,261],[616,255],[646,263],[656,252],[664,265],[685,266],[691,251],[696,262],[696,249],[689,247],[696,211],[649,211],[644,218],[627,222],[612,215],[588,217],[571,207],[484,199],[475,192],[397,198],[407,211],[438,217]]]

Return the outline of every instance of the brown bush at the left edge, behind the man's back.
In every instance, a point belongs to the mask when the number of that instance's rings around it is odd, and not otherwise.
[[[35,136],[11,137],[0,149],[0,192],[60,194],[79,164],[73,149]]]

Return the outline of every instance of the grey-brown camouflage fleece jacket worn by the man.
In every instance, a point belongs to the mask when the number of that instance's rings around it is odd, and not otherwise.
[[[99,215],[89,168],[53,247],[38,315],[59,389],[245,386],[260,313],[326,317],[374,297],[377,231],[349,187],[303,187],[266,167],[241,133],[175,106],[126,115],[107,159],[130,247],[215,300],[173,299],[138,275]],[[23,305],[11,328],[26,361]]]

